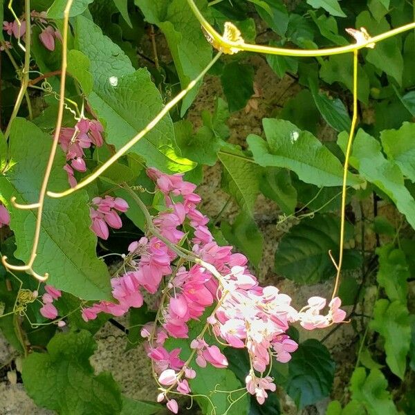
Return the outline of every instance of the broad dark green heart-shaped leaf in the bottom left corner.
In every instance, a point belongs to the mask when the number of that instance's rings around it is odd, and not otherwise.
[[[23,361],[24,386],[37,405],[60,415],[120,413],[118,385],[108,373],[95,376],[89,363],[96,349],[91,333],[59,333],[47,349]]]

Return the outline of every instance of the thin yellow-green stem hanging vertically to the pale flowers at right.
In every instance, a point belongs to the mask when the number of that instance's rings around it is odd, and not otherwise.
[[[342,272],[343,264],[343,251],[344,251],[344,226],[346,224],[346,199],[347,199],[347,173],[349,172],[349,160],[351,154],[351,144],[353,142],[354,131],[358,121],[358,50],[353,50],[353,117],[351,119],[351,127],[349,132],[349,139],[347,140],[346,153],[344,155],[344,167],[343,167],[343,185],[342,185],[342,208],[340,211],[340,250],[339,260],[335,264],[337,273],[335,275],[335,284],[333,288],[333,299],[339,289],[340,284],[340,273]]]

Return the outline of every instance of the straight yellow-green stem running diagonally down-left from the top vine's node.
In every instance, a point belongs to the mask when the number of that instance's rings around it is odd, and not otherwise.
[[[116,163],[118,158],[122,157],[129,149],[131,149],[131,147],[133,147],[133,145],[136,145],[136,143],[138,141],[140,141],[141,138],[143,138],[149,131],[154,129],[154,127],[156,127],[158,122],[176,104],[178,104],[178,102],[180,102],[185,97],[185,95],[187,95],[187,93],[189,93],[189,91],[191,91],[194,88],[194,86],[196,86],[196,84],[200,80],[203,79],[203,77],[209,71],[209,69],[212,68],[212,66],[216,63],[216,61],[219,59],[219,57],[221,57],[221,54],[222,54],[221,52],[216,53],[215,57],[210,61],[208,66],[206,66],[203,69],[203,71],[194,80],[190,81],[190,83],[187,85],[187,87],[185,89],[183,89],[183,91],[181,91],[181,93],[178,93],[178,95],[176,95],[176,97],[174,97],[171,101],[169,101],[165,105],[165,107],[157,114],[157,116],[153,120],[151,120],[149,122],[149,124],[147,124],[147,127],[145,127],[145,129],[142,129],[136,136],[131,138],[131,140],[129,140],[129,142],[127,142],[127,144],[125,144],[123,147],[121,147],[116,152],[116,154],[114,154],[111,158],[109,158],[99,169],[96,169],[95,172],[93,172],[93,174],[91,174],[87,178],[84,178],[84,180],[80,181],[80,183],[78,183],[75,187],[72,187],[71,189],[65,190],[64,192],[58,192],[58,193],[47,192],[48,196],[53,197],[53,198],[64,197],[64,196],[67,196],[68,194],[71,194],[73,192],[76,192],[77,190],[82,189],[82,187],[85,187],[86,185],[89,185],[89,183],[92,183],[96,178],[98,178],[98,176],[100,176],[102,173],[104,173],[105,170],[107,170],[109,167],[111,167],[111,165],[113,165],[113,163]]]

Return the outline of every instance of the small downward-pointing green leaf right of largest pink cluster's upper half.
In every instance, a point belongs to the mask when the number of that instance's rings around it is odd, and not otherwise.
[[[262,259],[264,237],[262,237],[257,223],[250,216],[241,212],[232,225],[222,221],[221,231],[230,244],[241,250],[255,267],[259,266]]]

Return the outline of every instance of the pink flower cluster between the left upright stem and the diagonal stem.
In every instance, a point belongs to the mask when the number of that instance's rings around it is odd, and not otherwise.
[[[66,161],[71,162],[64,166],[64,170],[68,174],[68,182],[71,187],[77,185],[74,176],[74,169],[77,172],[86,172],[86,164],[84,160],[84,149],[89,149],[91,145],[101,147],[102,140],[101,123],[98,120],[89,120],[81,118],[75,127],[64,127],[59,134],[59,145],[66,154]]]

